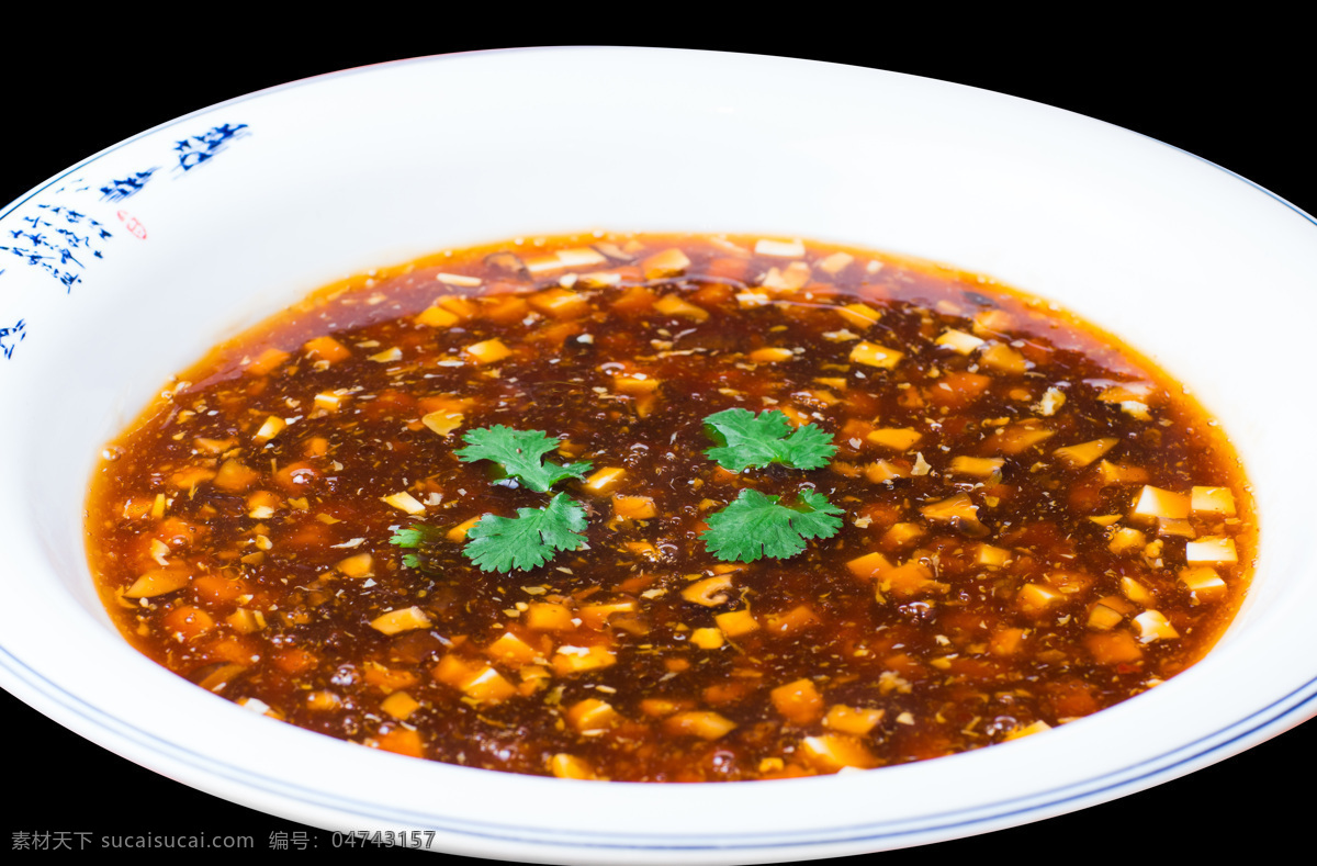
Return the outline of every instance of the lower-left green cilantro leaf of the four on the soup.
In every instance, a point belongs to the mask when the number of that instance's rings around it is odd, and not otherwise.
[[[544,508],[518,508],[516,517],[485,515],[466,533],[470,541],[462,553],[481,571],[529,571],[558,550],[583,548],[585,526],[585,508],[558,494]]]

